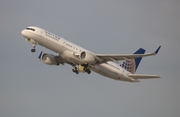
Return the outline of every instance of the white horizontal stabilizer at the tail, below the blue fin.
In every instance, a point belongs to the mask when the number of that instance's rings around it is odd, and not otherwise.
[[[149,74],[128,74],[129,77],[134,79],[151,79],[151,78],[160,78],[157,75],[149,75]]]

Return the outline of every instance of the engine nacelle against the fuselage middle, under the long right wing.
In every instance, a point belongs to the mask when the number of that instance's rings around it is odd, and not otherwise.
[[[91,53],[88,53],[88,52],[84,52],[84,51],[81,52],[79,58],[80,58],[81,60],[83,60],[84,62],[89,63],[89,64],[94,64],[94,63],[96,63],[96,58],[95,58],[95,56],[94,56],[93,54],[91,54]]]

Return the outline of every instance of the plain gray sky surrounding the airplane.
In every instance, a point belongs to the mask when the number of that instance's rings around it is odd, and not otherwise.
[[[76,75],[71,66],[48,66],[21,35],[38,26],[95,53],[144,58],[137,73],[161,79],[115,81]],[[1,117],[179,117],[179,0],[1,0]],[[53,53],[53,52],[51,52]]]

